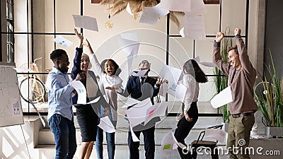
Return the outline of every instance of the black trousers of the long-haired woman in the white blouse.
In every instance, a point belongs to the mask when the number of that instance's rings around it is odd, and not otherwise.
[[[178,142],[185,144],[185,138],[187,138],[187,135],[190,133],[190,130],[195,125],[198,119],[198,110],[197,110],[197,102],[192,102],[190,105],[190,109],[187,111],[187,114],[189,114],[189,117],[192,118],[192,122],[187,122],[185,119],[185,116],[182,117],[182,119],[179,120],[177,124],[177,129],[175,130],[175,138]],[[192,158],[190,151],[182,150],[182,148],[178,147],[178,152],[180,154],[180,158],[187,159]]]

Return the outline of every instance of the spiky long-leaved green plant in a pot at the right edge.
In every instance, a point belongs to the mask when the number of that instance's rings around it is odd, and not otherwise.
[[[283,136],[283,103],[281,77],[277,76],[272,55],[271,66],[266,66],[266,73],[261,76],[262,82],[255,87],[255,99],[262,112],[262,123],[265,134]]]

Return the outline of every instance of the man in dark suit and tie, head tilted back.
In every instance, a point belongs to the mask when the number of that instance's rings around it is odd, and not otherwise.
[[[158,95],[159,87],[163,80],[161,78],[151,78],[148,76],[150,71],[151,64],[147,60],[141,61],[139,64],[139,71],[147,69],[144,76],[132,76],[127,81],[127,93],[131,95],[132,98],[137,100],[144,100],[143,93],[150,95],[152,105],[154,105],[154,97]],[[149,87],[149,85],[151,87]],[[143,88],[146,88],[144,90]],[[153,159],[155,152],[155,141],[154,141],[154,131],[156,122],[160,121],[159,117],[151,119],[151,121],[144,125],[139,124],[134,126],[134,134],[139,138],[139,135],[142,133],[144,135],[144,149],[146,159]],[[129,131],[128,134],[128,146],[129,146],[129,158],[130,159],[139,159],[139,142],[134,142],[132,139],[132,134]]]

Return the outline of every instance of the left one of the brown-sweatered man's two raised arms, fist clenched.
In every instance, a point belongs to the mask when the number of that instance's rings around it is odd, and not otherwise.
[[[226,76],[229,75],[229,64],[222,60],[220,54],[220,44],[221,40],[224,38],[224,33],[218,32],[216,33],[216,38],[213,45],[213,56],[212,61],[217,66],[217,68],[222,71]]]

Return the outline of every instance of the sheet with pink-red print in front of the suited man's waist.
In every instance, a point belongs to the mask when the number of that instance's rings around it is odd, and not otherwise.
[[[146,119],[144,125],[154,119],[154,117],[163,117],[166,116],[166,109],[168,107],[168,102],[158,102],[149,109],[146,110]]]

